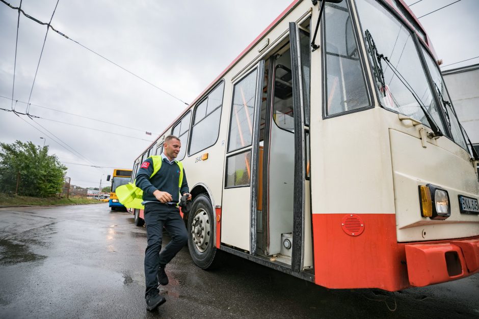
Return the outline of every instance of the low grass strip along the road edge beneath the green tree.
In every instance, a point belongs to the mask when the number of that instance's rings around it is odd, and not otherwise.
[[[75,205],[75,204],[99,204],[102,201],[89,199],[81,196],[66,197],[31,197],[17,196],[0,193],[0,206],[47,206],[47,205]]]

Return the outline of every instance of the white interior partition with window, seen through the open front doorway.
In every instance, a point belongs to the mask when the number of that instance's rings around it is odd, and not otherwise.
[[[291,53],[286,44],[274,56],[272,110],[269,120],[268,208],[263,243],[266,255],[290,264],[290,254],[282,249],[284,238],[293,231],[293,194],[295,165],[294,110],[292,97]],[[282,239],[283,238],[283,239]],[[290,250],[289,250],[290,251]]]

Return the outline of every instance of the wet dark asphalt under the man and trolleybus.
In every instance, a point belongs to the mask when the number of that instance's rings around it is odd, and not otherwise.
[[[108,204],[0,209],[0,317],[479,317],[478,274],[395,293],[332,290],[224,253],[203,271],[188,247],[167,267],[167,302],[148,312],[145,247],[145,228]]]

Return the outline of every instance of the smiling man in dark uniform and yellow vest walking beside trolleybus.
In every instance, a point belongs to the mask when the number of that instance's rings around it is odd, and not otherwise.
[[[148,246],[145,250],[146,308],[153,310],[166,299],[158,294],[158,283],[168,284],[165,266],[187,243],[188,232],[179,214],[179,194],[190,189],[181,162],[175,160],[181,148],[178,137],[169,135],[163,143],[163,154],[148,157],[140,166],[136,186],[143,190],[144,217]],[[162,250],[163,226],[171,236]],[[161,252],[160,252],[161,251]]]

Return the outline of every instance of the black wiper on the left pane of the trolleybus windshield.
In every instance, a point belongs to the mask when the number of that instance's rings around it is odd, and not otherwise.
[[[394,75],[396,75],[397,78],[404,84],[406,89],[408,89],[408,91],[412,94],[413,98],[419,104],[420,109],[424,113],[424,117],[426,118],[426,120],[428,120],[428,123],[431,126],[431,129],[433,130],[433,133],[429,133],[429,137],[433,138],[433,137],[444,136],[444,134],[442,134],[441,130],[437,126],[436,122],[434,122],[433,117],[429,113],[428,109],[425,108],[425,106],[422,104],[420,99],[417,97],[417,94],[412,89],[412,86],[408,83],[408,81],[404,78],[404,76],[401,75],[399,71],[397,71],[397,69],[392,65],[392,63],[389,61],[387,56],[384,56],[384,54],[380,54],[378,52],[378,48],[376,44],[374,43],[374,40],[372,39],[372,36],[369,30],[366,30],[364,34],[366,36],[366,41],[370,47],[370,49],[368,49],[369,53],[371,53],[374,60],[378,61],[377,63],[376,62],[374,63],[375,63],[375,66],[378,66],[376,71],[378,71],[380,77],[377,76],[377,78],[379,79],[379,82],[381,83],[381,90],[383,91],[384,97],[386,97],[386,84],[384,83],[384,72],[381,65],[381,59],[384,60],[384,62],[386,62],[386,64],[391,68],[391,71],[394,73]]]

